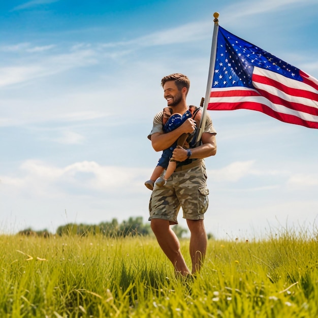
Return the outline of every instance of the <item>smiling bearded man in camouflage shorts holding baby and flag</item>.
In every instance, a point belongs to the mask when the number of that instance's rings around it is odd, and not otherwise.
[[[161,81],[167,106],[173,113],[183,114],[188,110],[186,96],[190,87],[189,79],[182,74],[171,74]],[[148,138],[155,151],[169,148],[183,133],[191,134],[196,122],[188,118],[177,129],[164,134],[162,112],[155,115],[153,127]],[[149,202],[149,220],[156,239],[174,266],[177,274],[187,276],[200,270],[207,246],[204,228],[204,213],[208,208],[208,189],[203,158],[216,153],[216,132],[207,116],[201,143],[192,149],[177,146],[173,150],[173,159],[178,163],[175,172],[163,187],[154,186]],[[180,242],[170,225],[177,224],[177,214],[182,207],[190,231],[190,257],[192,271],[185,264],[180,251]]]

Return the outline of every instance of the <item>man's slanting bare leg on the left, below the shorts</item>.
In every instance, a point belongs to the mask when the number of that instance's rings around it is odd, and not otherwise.
[[[190,273],[180,251],[180,242],[171,230],[168,220],[151,219],[151,229],[166,256],[173,264],[175,271],[183,276]]]

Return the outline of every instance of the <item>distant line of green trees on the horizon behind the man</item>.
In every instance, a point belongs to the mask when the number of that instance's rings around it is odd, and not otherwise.
[[[183,234],[187,233],[187,229],[182,228],[179,225],[173,226],[173,231],[181,238]],[[116,218],[113,218],[110,222],[101,222],[98,225],[88,224],[75,224],[68,223],[66,225],[59,226],[56,233],[50,233],[48,230],[34,231],[31,228],[27,228],[18,232],[20,235],[26,236],[42,236],[50,237],[52,235],[105,235],[107,237],[126,237],[126,236],[148,236],[152,235],[149,222],[143,223],[142,216],[130,217],[128,220],[118,222]],[[214,236],[208,233],[208,238],[213,239]]]

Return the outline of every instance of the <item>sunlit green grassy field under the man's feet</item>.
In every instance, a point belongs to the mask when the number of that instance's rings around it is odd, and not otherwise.
[[[318,316],[318,241],[306,233],[209,240],[195,279],[175,278],[149,237],[3,235],[0,246],[0,317]]]

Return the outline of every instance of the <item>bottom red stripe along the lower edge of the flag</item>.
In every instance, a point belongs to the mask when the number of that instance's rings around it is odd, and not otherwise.
[[[235,109],[249,109],[256,110],[262,113],[265,113],[273,118],[276,118],[280,121],[293,123],[297,125],[302,125],[307,128],[318,129],[318,122],[307,121],[301,119],[294,115],[282,114],[275,112],[270,107],[264,104],[255,103],[255,102],[241,102],[241,103],[209,103],[208,110],[235,110]]]

